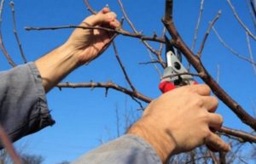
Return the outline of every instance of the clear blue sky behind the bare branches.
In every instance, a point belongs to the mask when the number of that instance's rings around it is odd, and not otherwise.
[[[157,35],[160,36],[163,28],[160,19],[164,14],[164,2],[137,0],[136,3],[131,3],[131,1],[124,0],[123,3],[138,31],[143,31],[143,34],[148,36],[152,36],[153,32],[156,31]],[[90,15],[82,0],[25,0],[14,1],[14,3],[20,40],[29,61],[38,59],[65,42],[72,30],[25,31],[25,26],[78,25],[81,20]],[[108,3],[110,8],[118,14],[119,19],[122,17],[117,1],[103,0],[91,1],[90,3],[96,10]],[[244,1],[232,1],[232,3],[237,8],[237,12],[244,23],[255,33],[247,4]],[[177,30],[189,47],[192,45],[199,8],[199,0],[178,0],[174,3],[174,20]],[[207,31],[208,22],[213,19],[219,9],[221,9],[222,14],[215,25],[219,35],[236,52],[248,57],[245,32],[237,23],[225,0],[206,1],[195,48],[196,52],[200,47],[205,31]],[[6,0],[3,10],[3,41],[15,62],[22,64],[12,28],[9,0]],[[131,31],[126,22],[124,28]],[[130,37],[119,36],[115,42],[120,58],[123,60],[137,90],[151,98],[157,98],[160,95],[158,90],[160,76],[153,65],[138,65],[139,62],[150,60],[147,49],[139,40]],[[254,58],[256,58],[255,41],[251,40],[251,42]],[[150,43],[154,48],[159,47],[157,43]],[[0,55],[0,59],[0,70],[9,69],[10,66],[3,54]],[[202,61],[212,76],[217,76],[217,65],[219,65],[220,85],[247,112],[253,114],[253,105],[256,108],[256,75],[252,65],[231,54],[218,42],[213,32],[208,37],[202,54]],[[90,81],[112,81],[128,88],[128,84],[125,82],[114,58],[112,48],[109,48],[101,58],[96,59],[90,65],[82,66],[64,79],[64,82]],[[199,80],[199,82],[201,81]],[[56,121],[55,125],[21,139],[17,143],[18,147],[23,146],[26,153],[44,156],[45,164],[53,164],[65,160],[73,161],[88,150],[96,148],[100,144],[100,139],[108,141],[109,138],[115,137],[117,135],[115,110],[119,109],[120,118],[123,118],[125,110],[131,110],[139,115],[140,111],[137,111],[139,106],[123,93],[109,90],[107,98],[104,94],[105,90],[100,88],[62,89],[62,91],[57,88],[53,89],[47,97],[49,109]],[[225,126],[251,132],[251,129],[243,126],[225,105],[219,105],[218,113],[224,116]],[[121,128],[122,126],[124,123],[122,123]]]

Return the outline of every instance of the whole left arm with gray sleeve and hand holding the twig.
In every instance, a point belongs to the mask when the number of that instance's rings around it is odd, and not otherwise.
[[[81,25],[115,28],[119,26],[115,18],[109,8],[103,8],[98,14],[87,17]],[[79,65],[99,56],[112,36],[107,31],[75,29],[67,42],[35,63],[0,73],[0,122],[12,141],[54,123],[45,92]]]

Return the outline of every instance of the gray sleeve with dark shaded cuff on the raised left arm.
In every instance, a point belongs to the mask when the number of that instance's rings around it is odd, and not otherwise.
[[[13,142],[55,123],[33,63],[0,72],[0,123]]]

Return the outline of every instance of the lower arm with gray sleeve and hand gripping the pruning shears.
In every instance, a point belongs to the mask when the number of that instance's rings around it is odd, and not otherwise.
[[[155,99],[128,133],[80,157],[73,164],[165,163],[170,156],[207,144],[213,150],[230,146],[211,129],[223,119],[214,114],[218,101],[206,85],[177,88]]]

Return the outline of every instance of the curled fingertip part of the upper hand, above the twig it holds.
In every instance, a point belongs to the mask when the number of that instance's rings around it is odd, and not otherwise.
[[[111,12],[109,8],[102,8],[102,10],[94,15],[90,15],[83,22],[92,26],[101,25],[102,23],[110,23],[116,19],[116,14]]]

